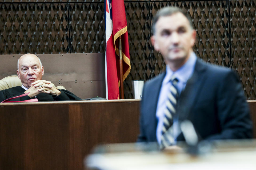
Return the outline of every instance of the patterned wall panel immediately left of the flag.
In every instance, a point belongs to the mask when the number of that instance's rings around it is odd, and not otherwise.
[[[105,53],[104,3],[70,3],[71,53]]]

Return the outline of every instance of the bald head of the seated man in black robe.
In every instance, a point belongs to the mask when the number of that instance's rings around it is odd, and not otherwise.
[[[17,74],[23,86],[29,88],[31,83],[42,80],[43,66],[34,54],[25,54],[19,59]]]

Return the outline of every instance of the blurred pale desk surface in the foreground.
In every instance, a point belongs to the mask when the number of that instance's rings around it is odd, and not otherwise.
[[[183,146],[185,149],[169,148],[160,152],[145,150],[154,146],[137,145],[129,143],[99,146],[100,152],[90,154],[84,161],[85,166],[101,170],[255,170],[256,166],[256,140],[215,141],[202,147],[198,145],[197,155],[187,153],[186,146]]]

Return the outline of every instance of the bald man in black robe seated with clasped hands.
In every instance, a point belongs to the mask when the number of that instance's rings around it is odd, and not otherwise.
[[[18,60],[17,74],[22,86],[0,91],[0,102],[14,96],[29,93],[12,101],[23,101],[37,98],[38,101],[78,100],[79,97],[67,90],[58,90],[50,81],[42,80],[44,74],[40,59],[34,54],[24,54]]]

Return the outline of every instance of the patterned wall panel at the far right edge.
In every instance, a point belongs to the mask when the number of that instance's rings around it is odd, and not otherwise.
[[[242,81],[247,99],[256,99],[255,1],[230,1],[231,65]]]

